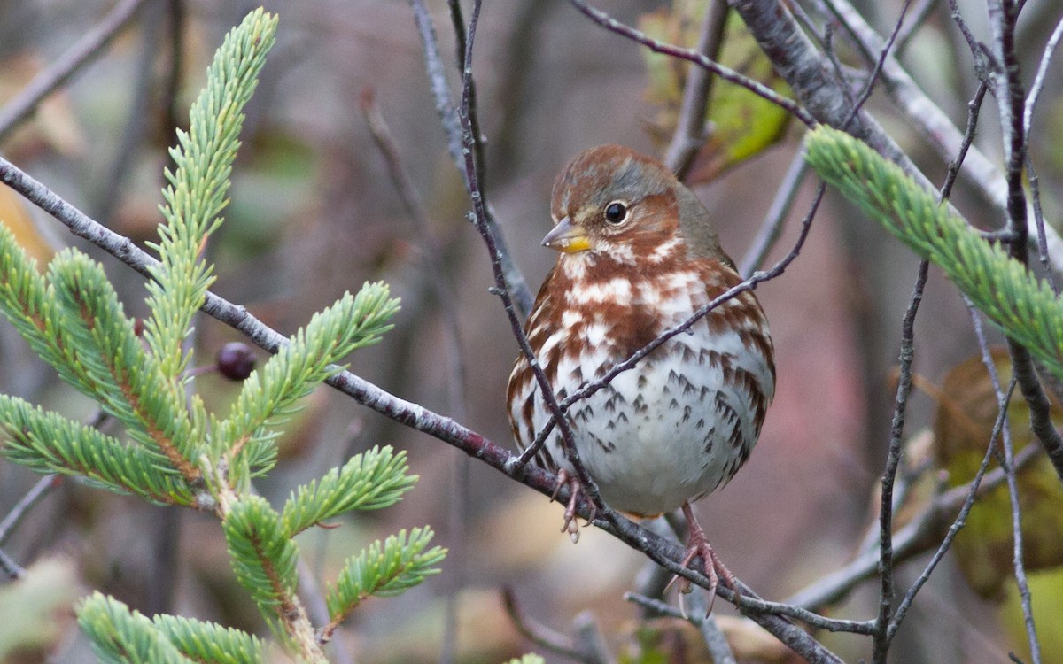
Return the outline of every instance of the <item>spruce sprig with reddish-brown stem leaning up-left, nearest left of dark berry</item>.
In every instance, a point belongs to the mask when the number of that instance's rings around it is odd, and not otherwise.
[[[103,268],[64,250],[52,259],[49,276],[69,322],[73,361],[96,388],[90,396],[128,427],[131,438],[157,448],[187,479],[198,478],[195,460],[202,436],[191,426],[181,385],[167,380],[140,345]]]

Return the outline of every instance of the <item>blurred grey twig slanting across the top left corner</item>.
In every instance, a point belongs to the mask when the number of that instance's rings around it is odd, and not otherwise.
[[[99,57],[133,17],[145,0],[122,0],[103,20],[86,32],[47,69],[40,71],[0,109],[0,141],[22,123],[46,97],[63,87],[83,67]]]

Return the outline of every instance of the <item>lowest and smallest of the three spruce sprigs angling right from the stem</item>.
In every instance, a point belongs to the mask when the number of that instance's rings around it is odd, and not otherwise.
[[[433,534],[431,528],[414,528],[407,539],[403,529],[349,558],[325,597],[332,625],[341,623],[367,597],[394,597],[439,574],[434,565],[443,560],[446,549],[434,546],[422,552]]]

